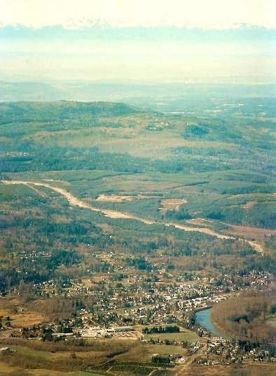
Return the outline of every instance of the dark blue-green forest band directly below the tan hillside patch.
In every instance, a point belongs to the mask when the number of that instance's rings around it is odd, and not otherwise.
[[[20,141],[19,141],[20,144]],[[17,146],[17,148],[19,148]],[[43,148],[43,153],[41,153]],[[24,148],[25,149],[25,148]],[[70,171],[80,169],[101,169],[109,171],[142,174],[145,172],[162,172],[165,174],[180,172],[208,172],[229,170],[230,165],[218,160],[203,158],[167,158],[151,159],[134,157],[128,153],[102,153],[97,148],[76,148],[53,146],[36,146],[30,144],[27,148],[28,157],[0,157],[1,172],[25,171]],[[232,166],[234,167],[234,166]],[[244,165],[235,168],[242,168]]]

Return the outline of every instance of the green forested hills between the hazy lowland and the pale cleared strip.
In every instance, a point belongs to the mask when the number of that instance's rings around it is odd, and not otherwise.
[[[87,200],[139,196],[97,204],[149,218],[272,228],[275,122],[229,106],[203,117],[111,102],[1,103],[2,179],[59,180]]]

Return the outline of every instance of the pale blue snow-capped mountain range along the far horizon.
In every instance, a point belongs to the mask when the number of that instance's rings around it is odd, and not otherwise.
[[[112,27],[53,25],[34,29],[24,25],[0,26],[0,38],[15,39],[275,39],[276,29],[247,24],[203,29],[200,27]]]

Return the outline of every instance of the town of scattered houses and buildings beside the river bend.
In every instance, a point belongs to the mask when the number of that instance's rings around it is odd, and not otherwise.
[[[111,254],[113,267],[115,258]],[[91,277],[85,279],[68,279],[62,283],[53,279],[34,284],[32,293],[36,297],[74,299],[72,315],[23,328],[13,328],[11,320],[6,326],[1,321],[1,337],[53,342],[74,339],[81,346],[90,340],[128,339],[181,349],[180,354],[153,354],[152,362],[161,365],[191,361],[202,365],[227,365],[274,359],[269,347],[256,341],[230,340],[230,336],[226,340],[196,320],[196,312],[222,300],[238,298],[249,288],[271,288],[271,274],[251,271],[247,275],[224,274],[219,278],[184,272],[172,282],[172,275],[164,265],[160,269],[156,265],[151,273],[137,271],[134,267],[112,268],[111,272],[109,267],[106,272],[90,274]],[[18,288],[24,295],[24,286]],[[13,293],[17,293],[16,289]]]

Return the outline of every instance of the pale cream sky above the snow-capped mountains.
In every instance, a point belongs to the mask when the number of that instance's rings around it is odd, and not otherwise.
[[[276,27],[275,0],[1,0],[2,25],[78,24],[100,18],[116,26],[193,25],[244,22]]]

